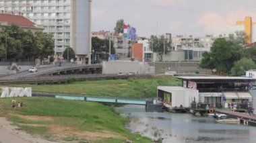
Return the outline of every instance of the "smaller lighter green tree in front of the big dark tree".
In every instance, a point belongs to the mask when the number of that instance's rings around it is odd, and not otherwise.
[[[231,69],[231,74],[232,76],[241,76],[245,75],[245,71],[255,68],[256,64],[253,62],[253,60],[249,58],[242,58],[241,60],[234,62],[234,66]]]

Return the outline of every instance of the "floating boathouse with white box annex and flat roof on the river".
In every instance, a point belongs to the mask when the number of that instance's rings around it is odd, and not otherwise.
[[[166,107],[182,107],[195,101],[197,105],[228,107],[228,103],[247,106],[253,97],[249,89],[256,79],[251,77],[176,77],[182,87],[158,87],[158,100]],[[179,92],[178,92],[179,91]]]

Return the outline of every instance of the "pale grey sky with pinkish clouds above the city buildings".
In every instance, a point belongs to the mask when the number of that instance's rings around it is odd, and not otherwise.
[[[256,22],[255,0],[92,0],[92,32],[114,31],[118,19],[138,36],[205,36],[246,16]]]

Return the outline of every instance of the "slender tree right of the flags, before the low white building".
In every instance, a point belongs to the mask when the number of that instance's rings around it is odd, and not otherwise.
[[[164,38],[164,35],[160,36],[159,38],[158,36],[150,36],[149,44],[153,52],[156,52],[158,54],[159,61],[163,60],[163,54],[166,54],[168,52],[171,45],[171,43]]]

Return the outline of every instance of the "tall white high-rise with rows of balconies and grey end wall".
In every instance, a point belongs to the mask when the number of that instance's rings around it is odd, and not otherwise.
[[[70,46],[77,61],[90,62],[92,0],[0,0],[0,11],[22,14],[55,38],[55,54]]]

